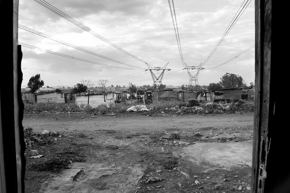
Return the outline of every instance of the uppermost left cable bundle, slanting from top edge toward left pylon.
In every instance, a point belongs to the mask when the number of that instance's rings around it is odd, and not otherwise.
[[[84,31],[89,32],[90,34],[92,34],[93,36],[99,38],[100,40],[110,44],[111,46],[113,46],[114,48],[117,48],[118,50],[124,52],[125,54],[128,54],[129,56],[145,63],[144,60],[138,58],[137,56],[131,54],[130,52],[124,50],[123,48],[121,48],[120,46],[114,44],[113,42],[109,41],[108,39],[104,38],[103,36],[99,35],[98,33],[94,32],[93,30],[91,30],[89,27],[83,25],[82,23],[80,23],[79,21],[75,20],[74,18],[72,18],[71,16],[67,15],[66,13],[62,12],[61,10],[57,9],[56,7],[54,7],[53,5],[51,5],[50,3],[46,2],[45,0],[34,0],[37,3],[41,4],[42,6],[46,7],[47,9],[51,10],[52,12],[58,14],[59,16],[63,17],[64,19],[66,19],[67,21],[73,23],[74,25],[80,27],[81,29],[83,29]]]

